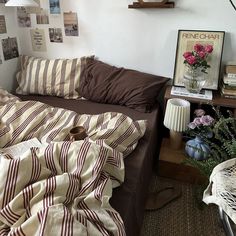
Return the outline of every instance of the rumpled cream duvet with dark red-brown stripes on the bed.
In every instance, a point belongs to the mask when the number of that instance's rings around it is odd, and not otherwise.
[[[88,137],[72,142],[78,125]],[[145,129],[121,113],[78,115],[36,101],[0,106],[1,148],[34,137],[43,144],[17,158],[1,154],[0,235],[125,235],[109,199]]]

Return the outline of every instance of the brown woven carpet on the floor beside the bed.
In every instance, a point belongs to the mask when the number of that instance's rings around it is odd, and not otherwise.
[[[153,175],[150,191],[176,185],[182,196],[164,208],[146,211],[141,236],[225,236],[217,207],[203,209],[195,197],[193,185]]]

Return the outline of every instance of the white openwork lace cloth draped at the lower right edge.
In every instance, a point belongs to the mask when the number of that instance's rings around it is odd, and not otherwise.
[[[220,206],[236,224],[236,158],[217,165],[209,181],[202,200]]]

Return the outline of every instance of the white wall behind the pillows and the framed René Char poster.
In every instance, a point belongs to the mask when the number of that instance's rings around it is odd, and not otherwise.
[[[48,28],[63,28],[63,15],[50,15],[49,25],[36,25],[32,15],[32,28],[45,29],[47,52],[32,51],[28,28],[18,28],[21,51],[47,58],[94,54],[113,65],[172,77],[178,29],[202,29],[226,31],[223,61],[236,60],[236,11],[229,1],[175,0],[173,9],[139,10],[128,9],[130,3],[131,0],[61,0],[63,11],[78,13],[80,36],[66,37],[63,32],[63,44],[51,43]],[[48,0],[41,0],[41,4],[48,8]],[[5,81],[4,86],[11,83]]]

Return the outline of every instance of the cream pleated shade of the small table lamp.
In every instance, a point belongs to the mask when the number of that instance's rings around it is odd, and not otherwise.
[[[164,125],[169,130],[183,132],[190,122],[190,103],[187,100],[172,98],[167,101]]]

